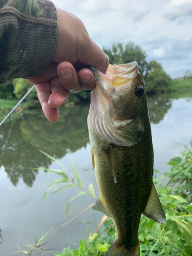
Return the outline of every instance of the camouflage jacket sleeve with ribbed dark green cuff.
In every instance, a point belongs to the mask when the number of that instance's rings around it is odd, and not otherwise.
[[[0,8],[0,84],[35,77],[55,53],[54,4],[48,0],[1,0]]]

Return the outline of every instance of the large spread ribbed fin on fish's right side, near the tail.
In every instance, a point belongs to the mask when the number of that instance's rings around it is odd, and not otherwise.
[[[166,222],[165,213],[159,200],[159,196],[155,189],[154,183],[152,184],[151,194],[143,211],[143,215],[157,223]]]

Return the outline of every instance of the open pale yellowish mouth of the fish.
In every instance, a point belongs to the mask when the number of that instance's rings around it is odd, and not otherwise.
[[[106,74],[99,72],[95,67],[91,67],[93,74],[95,76],[95,80],[97,85],[101,89],[101,82],[99,80],[105,81],[105,89],[118,88],[122,90],[127,83],[133,80],[139,73],[137,61],[133,61],[127,64],[122,65],[109,65]],[[108,83],[108,86],[107,84]],[[102,84],[103,86],[103,84]]]

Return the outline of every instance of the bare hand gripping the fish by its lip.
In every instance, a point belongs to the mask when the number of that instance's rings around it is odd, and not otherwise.
[[[65,105],[70,92],[95,87],[94,75],[86,66],[105,73],[109,65],[108,56],[90,38],[79,18],[57,8],[57,22],[57,47],[51,63],[28,79],[35,84],[42,111],[51,122],[59,118],[57,108]]]

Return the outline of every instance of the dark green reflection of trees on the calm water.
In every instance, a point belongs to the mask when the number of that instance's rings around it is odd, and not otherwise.
[[[188,97],[187,99],[190,100],[191,96],[191,93],[185,92],[182,95],[172,93],[148,97],[151,122],[157,124],[164,118],[172,107],[173,99]],[[37,148],[60,159],[69,150],[75,152],[81,147],[86,147],[89,142],[88,111],[89,104],[62,109],[56,123],[49,122],[41,110],[33,115],[24,114],[22,119],[14,121],[6,144],[11,123],[4,123],[0,131],[1,150],[5,144],[0,167],[2,165],[5,167],[5,172],[13,185],[16,186],[19,178],[23,178],[24,182],[31,187],[38,174],[38,170],[31,168],[39,166],[48,168],[52,163],[52,160],[39,153]]]

